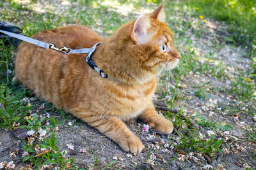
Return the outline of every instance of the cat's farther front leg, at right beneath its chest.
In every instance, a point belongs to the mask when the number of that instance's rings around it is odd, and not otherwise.
[[[157,114],[153,104],[150,104],[150,106],[141,113],[140,118],[145,124],[150,125],[158,132],[171,134],[173,131],[172,122]]]

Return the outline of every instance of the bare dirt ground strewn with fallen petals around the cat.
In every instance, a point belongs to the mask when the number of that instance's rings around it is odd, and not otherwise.
[[[227,34],[225,32],[225,25],[214,20],[209,21],[209,24],[203,27],[209,31],[205,37],[195,37],[193,35],[193,29],[188,29],[186,32],[186,38],[191,39],[191,45],[196,47],[195,53],[199,56],[209,53],[208,49],[211,48],[213,42],[216,42],[216,39],[221,44],[223,36]],[[179,49],[184,50],[184,48],[182,48],[184,39],[180,39],[177,44]],[[222,62],[230,66],[227,67],[229,71],[232,71],[232,69],[236,67],[244,69],[244,71],[250,69],[250,67],[248,67],[250,60],[244,56],[246,50],[241,48],[241,46],[219,46],[219,49],[216,49],[215,53],[221,56]],[[202,117],[209,120],[226,122],[232,125],[234,129],[226,136],[230,139],[227,139],[227,141],[223,143],[224,148],[227,148],[225,143],[231,146],[229,148],[230,153],[220,153],[216,155],[216,157],[200,155],[199,153],[193,153],[195,155],[179,153],[170,145],[172,140],[170,138],[178,138],[177,134],[169,136],[154,134],[154,132],[152,132],[154,129],[150,129],[149,132],[142,132],[143,122],[140,120],[131,120],[131,122],[127,123],[127,127],[141,139],[145,146],[143,152],[131,154],[124,152],[116,143],[111,141],[111,139],[100,134],[99,131],[90,127],[90,125],[81,122],[81,120],[77,120],[67,114],[65,116],[67,116],[68,119],[58,115],[58,113],[51,113],[64,121],[56,132],[56,136],[60,139],[58,147],[60,150],[67,150],[67,157],[75,158],[75,165],[84,169],[102,169],[115,160],[116,162],[108,167],[108,169],[246,169],[246,164],[252,169],[256,168],[255,156],[253,156],[256,143],[255,141],[250,142],[246,140],[246,134],[244,132],[246,125],[252,125],[255,124],[255,122],[253,122],[251,117],[246,115],[246,113],[241,113],[240,115],[240,122],[245,122],[244,125],[236,122],[233,115],[216,113],[218,108],[223,107],[222,110],[224,110],[227,106],[226,103],[230,103],[230,106],[236,105],[236,97],[227,96],[223,92],[209,91],[211,97],[202,101],[198,96],[195,96],[195,82],[197,82],[198,85],[207,83],[213,89],[220,87],[228,89],[229,87],[227,82],[212,78],[212,76],[207,73],[189,73],[188,76],[181,78],[179,87],[180,92],[182,92],[187,99],[185,102],[177,101],[175,108],[177,110],[183,108],[187,116],[200,113]],[[170,83],[172,83],[172,81]],[[185,87],[182,86],[184,84],[186,85]],[[159,97],[159,94],[156,94],[156,99],[163,101],[163,99]],[[214,101],[218,102],[218,108],[214,108],[215,106],[213,106],[211,110],[212,107],[210,105],[214,103]],[[36,98],[35,103],[44,104],[44,101]],[[182,104],[184,104],[184,106]],[[37,114],[40,115],[40,111],[38,111]],[[76,122],[74,122],[74,120],[76,120]],[[68,125],[68,122],[74,124]],[[198,131],[206,134],[208,130],[209,129],[200,127]],[[222,136],[222,134],[216,134],[216,136]],[[68,150],[67,144],[73,145],[74,151]],[[84,149],[84,153],[80,152],[81,149]],[[17,157],[10,157],[10,152],[14,151],[17,153]],[[15,137],[15,132],[0,129],[0,162],[13,160],[16,165],[15,169],[26,167],[27,164],[22,162],[23,152],[22,141]],[[152,155],[156,156],[156,158]],[[149,160],[154,160],[154,163],[150,163]]]

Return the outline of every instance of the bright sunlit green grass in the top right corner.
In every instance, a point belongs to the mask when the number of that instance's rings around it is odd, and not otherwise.
[[[207,18],[226,22],[230,36],[227,41],[237,45],[254,44],[256,38],[256,1],[241,0],[196,0],[186,1],[189,10],[195,16],[202,15]]]

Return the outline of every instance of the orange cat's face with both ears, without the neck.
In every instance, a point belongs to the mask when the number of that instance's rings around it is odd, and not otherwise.
[[[146,67],[173,69],[179,63],[180,53],[173,45],[173,34],[165,23],[163,5],[150,15],[138,17],[131,28],[131,38],[138,46],[150,46],[154,53],[148,54],[145,48],[144,58]]]

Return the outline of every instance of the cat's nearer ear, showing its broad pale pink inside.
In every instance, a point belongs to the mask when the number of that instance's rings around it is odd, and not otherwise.
[[[143,44],[147,39],[147,29],[150,27],[150,20],[147,15],[141,15],[136,19],[131,30],[131,37],[137,43]]]

